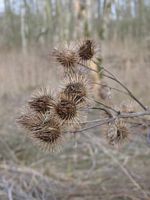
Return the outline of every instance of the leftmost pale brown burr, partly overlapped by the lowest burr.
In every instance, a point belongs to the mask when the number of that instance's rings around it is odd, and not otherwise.
[[[17,119],[17,123],[28,131],[37,131],[43,123],[42,113],[27,112]]]

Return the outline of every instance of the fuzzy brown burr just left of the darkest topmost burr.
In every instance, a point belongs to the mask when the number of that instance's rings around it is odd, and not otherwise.
[[[70,46],[60,49],[54,49],[52,53],[53,58],[61,64],[66,71],[74,71],[77,66],[78,56],[73,48]]]

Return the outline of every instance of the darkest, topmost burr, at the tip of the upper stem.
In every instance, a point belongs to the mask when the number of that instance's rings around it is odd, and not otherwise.
[[[95,42],[91,39],[85,39],[78,45],[78,56],[81,63],[91,60],[96,54]]]

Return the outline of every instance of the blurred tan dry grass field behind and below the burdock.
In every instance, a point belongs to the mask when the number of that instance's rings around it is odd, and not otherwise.
[[[149,55],[144,47],[132,48],[129,52],[127,45],[109,44],[104,61],[150,103]],[[17,128],[16,110],[31,91],[48,81],[53,87],[58,81],[58,68],[37,55],[0,56],[0,199],[149,200],[150,144],[144,130],[135,129],[132,142],[119,151],[105,144],[102,132],[95,129],[71,136],[63,152],[50,154],[41,152]]]

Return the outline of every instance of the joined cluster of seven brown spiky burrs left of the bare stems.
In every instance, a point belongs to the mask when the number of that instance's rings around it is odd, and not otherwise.
[[[77,130],[85,119],[92,102],[92,82],[83,65],[96,55],[93,40],[85,39],[78,45],[54,49],[51,58],[64,69],[64,79],[57,94],[48,88],[35,92],[29,99],[18,123],[44,149],[53,150],[60,144],[66,131]]]

